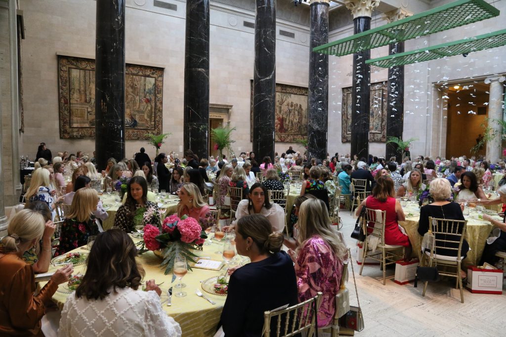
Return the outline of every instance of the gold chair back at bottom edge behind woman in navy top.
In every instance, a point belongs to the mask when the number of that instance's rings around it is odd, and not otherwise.
[[[294,306],[264,312],[264,337],[288,337],[307,331],[307,336],[312,336],[315,329],[315,315],[313,306],[320,307],[323,293],[318,292],[315,297]],[[277,318],[276,331],[271,331],[271,320]],[[283,322],[283,324],[281,324]]]

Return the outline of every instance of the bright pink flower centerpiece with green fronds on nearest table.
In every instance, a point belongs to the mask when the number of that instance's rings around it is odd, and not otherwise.
[[[166,275],[174,268],[176,256],[184,256],[187,263],[197,257],[191,250],[202,249],[207,238],[205,228],[194,218],[186,215],[179,218],[176,214],[166,217],[161,229],[147,224],[144,226],[143,241],[138,244],[139,254],[159,252],[163,259],[160,266],[165,268]],[[188,270],[191,270],[189,265]]]

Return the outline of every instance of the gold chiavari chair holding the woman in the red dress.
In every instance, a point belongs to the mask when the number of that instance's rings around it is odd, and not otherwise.
[[[362,266],[360,267],[360,275],[364,269],[365,259],[371,258],[379,261],[383,266],[383,285],[386,284],[387,265],[395,264],[397,260],[404,257],[404,247],[399,245],[387,245],[385,243],[385,222],[387,211],[365,209],[365,219],[362,221],[362,230],[365,234],[364,254],[362,257]],[[368,227],[368,223],[373,223],[374,227]],[[369,233],[367,228],[373,228]],[[379,248],[379,252],[376,249]],[[395,253],[402,249],[402,255]],[[387,262],[388,261],[388,262]]]

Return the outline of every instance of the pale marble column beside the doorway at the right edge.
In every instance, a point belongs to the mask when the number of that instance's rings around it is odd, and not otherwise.
[[[488,126],[496,130],[496,135],[492,140],[487,141],[486,157],[490,163],[496,163],[502,158],[501,153],[501,134],[502,125],[498,122],[502,120],[502,105],[504,102],[504,76],[490,76],[485,78],[485,84],[490,84],[488,90]]]

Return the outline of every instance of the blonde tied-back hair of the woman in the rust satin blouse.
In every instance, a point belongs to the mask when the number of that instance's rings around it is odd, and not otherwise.
[[[8,235],[2,239],[4,252],[19,253],[21,244],[31,240],[38,242],[44,234],[45,223],[44,217],[37,211],[24,209],[16,213],[7,227]]]

